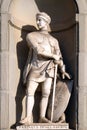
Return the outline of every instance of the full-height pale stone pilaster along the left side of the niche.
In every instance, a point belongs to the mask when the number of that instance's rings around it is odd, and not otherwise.
[[[3,1],[0,1],[2,4]],[[0,9],[0,130],[9,127],[8,15]]]

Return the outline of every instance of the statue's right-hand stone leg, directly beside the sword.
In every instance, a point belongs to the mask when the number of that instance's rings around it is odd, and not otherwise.
[[[48,119],[45,118],[47,105],[48,105],[48,98],[50,95],[52,84],[52,78],[47,78],[45,82],[42,84],[42,99],[40,103],[40,122],[50,123]]]

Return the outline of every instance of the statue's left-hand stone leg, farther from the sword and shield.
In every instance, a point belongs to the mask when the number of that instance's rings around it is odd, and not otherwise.
[[[20,123],[28,125],[31,124],[32,121],[32,110],[34,106],[34,94],[38,87],[38,83],[34,81],[28,81],[27,83],[27,97],[26,97],[26,117],[20,121]]]

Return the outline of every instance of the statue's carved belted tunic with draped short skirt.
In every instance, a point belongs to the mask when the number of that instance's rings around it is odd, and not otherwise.
[[[49,34],[33,32],[28,36],[28,45],[32,48],[32,57],[28,70],[28,80],[43,82],[47,77],[54,77],[54,62],[51,57],[39,55],[44,51],[48,54],[60,55],[58,42]],[[30,54],[31,55],[31,54]]]

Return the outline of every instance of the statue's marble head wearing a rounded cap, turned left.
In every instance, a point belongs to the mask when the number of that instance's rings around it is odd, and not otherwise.
[[[50,24],[51,18],[47,13],[39,12],[36,14],[36,22],[37,22],[38,27],[42,29]]]

